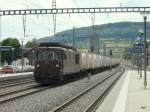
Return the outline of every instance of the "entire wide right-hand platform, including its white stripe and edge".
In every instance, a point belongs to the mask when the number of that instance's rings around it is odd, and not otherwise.
[[[150,72],[146,89],[136,70],[126,70],[96,112],[150,112]]]

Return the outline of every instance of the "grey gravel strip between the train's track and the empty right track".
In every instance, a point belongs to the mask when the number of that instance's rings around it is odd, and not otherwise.
[[[114,71],[114,69],[112,70]],[[111,72],[112,72],[111,71]],[[110,71],[0,104],[0,112],[48,112],[105,77]]]

